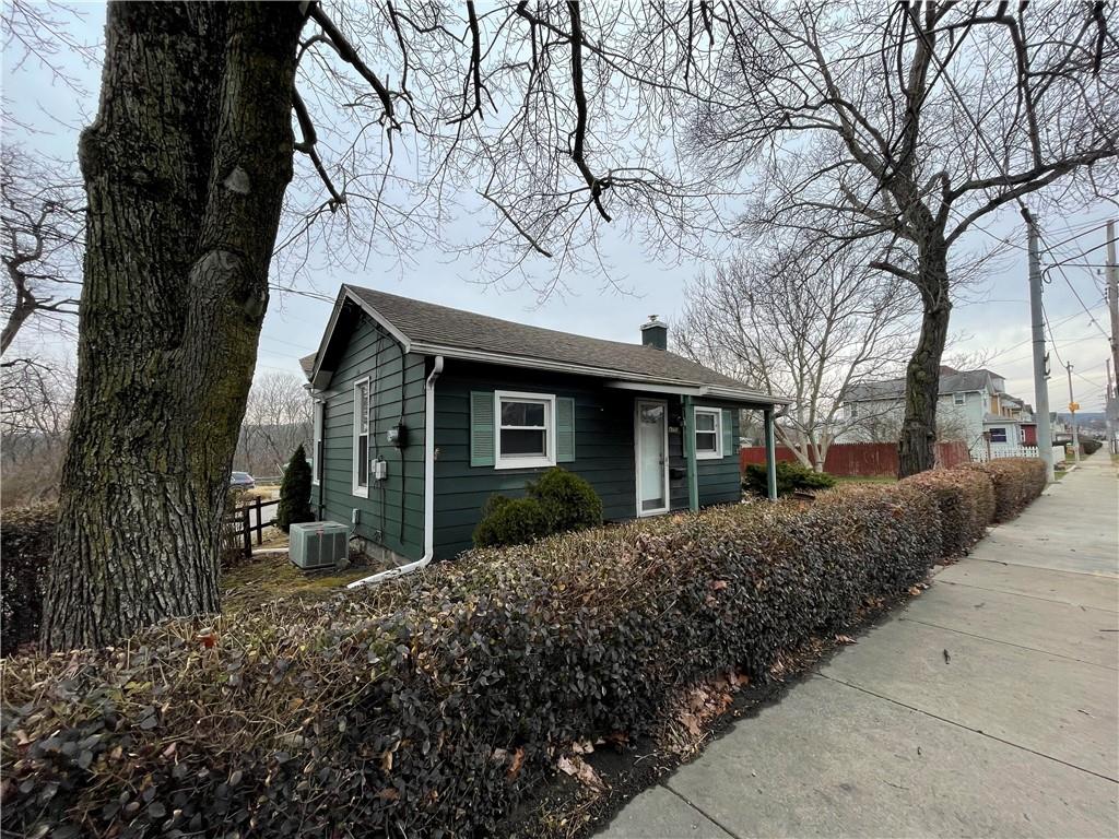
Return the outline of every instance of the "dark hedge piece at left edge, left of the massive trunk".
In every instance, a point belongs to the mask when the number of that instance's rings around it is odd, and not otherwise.
[[[55,503],[8,508],[0,519],[0,656],[39,638],[57,519]]]

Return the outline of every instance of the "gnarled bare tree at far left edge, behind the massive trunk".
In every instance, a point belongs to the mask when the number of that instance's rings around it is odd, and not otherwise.
[[[84,197],[76,180],[18,147],[0,152],[0,232],[4,275],[0,284],[7,352],[28,321],[69,332],[82,285]]]

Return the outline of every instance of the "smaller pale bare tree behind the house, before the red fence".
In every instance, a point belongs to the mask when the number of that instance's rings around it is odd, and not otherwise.
[[[675,330],[680,348],[765,393],[793,397],[775,433],[817,471],[846,427],[844,394],[899,371],[916,332],[906,284],[867,268],[853,248],[753,243],[686,294]]]

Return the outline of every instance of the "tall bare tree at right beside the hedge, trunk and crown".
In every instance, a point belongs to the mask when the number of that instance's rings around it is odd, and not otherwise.
[[[949,257],[1008,204],[1116,191],[1119,45],[1104,3],[718,6],[717,100],[696,144],[746,171],[760,230],[869,239],[921,295],[902,474],[933,465]],[[1059,191],[1056,187],[1065,187]]]

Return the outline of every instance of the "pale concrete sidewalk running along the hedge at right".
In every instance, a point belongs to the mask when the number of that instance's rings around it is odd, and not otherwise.
[[[602,836],[1119,836],[1106,452]]]

